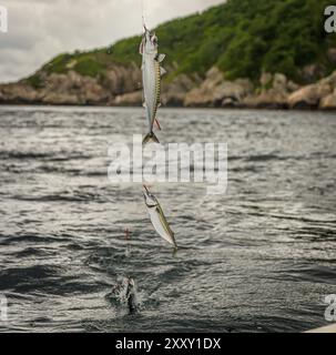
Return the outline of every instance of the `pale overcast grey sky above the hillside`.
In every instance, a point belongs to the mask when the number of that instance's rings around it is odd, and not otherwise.
[[[0,32],[0,82],[38,70],[55,54],[139,34],[141,9],[150,28],[224,0],[0,0],[8,33]]]

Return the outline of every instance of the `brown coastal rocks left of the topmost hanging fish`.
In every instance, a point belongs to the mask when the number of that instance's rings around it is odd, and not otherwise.
[[[81,75],[73,70],[51,74],[40,71],[33,78],[33,83],[22,80],[0,85],[0,102],[109,104],[115,101],[114,97],[134,93],[141,88],[141,71],[135,64],[113,65],[100,78]],[[124,98],[125,104],[135,100],[131,98]]]

